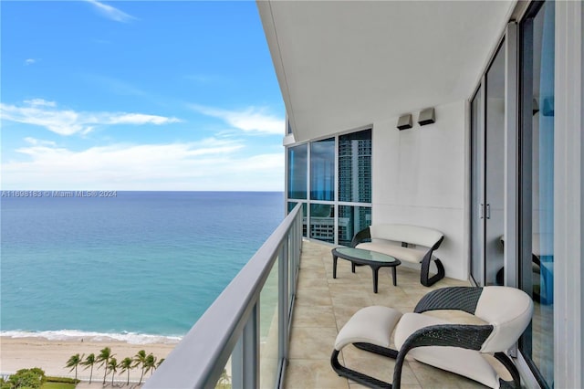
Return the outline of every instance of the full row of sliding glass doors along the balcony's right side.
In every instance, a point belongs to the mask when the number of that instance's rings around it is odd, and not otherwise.
[[[532,297],[533,320],[518,349],[548,388],[554,387],[555,6],[529,5],[518,25],[518,47],[515,27],[507,29],[470,101],[471,276],[479,286],[508,281]],[[518,110],[506,112],[515,107],[516,92]]]

